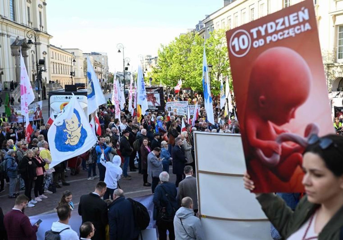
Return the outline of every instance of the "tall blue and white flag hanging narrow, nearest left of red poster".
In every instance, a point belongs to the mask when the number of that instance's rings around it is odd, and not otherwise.
[[[211,89],[210,89],[210,79],[209,79],[209,71],[207,68],[207,60],[206,60],[206,52],[205,52],[205,45],[204,45],[204,56],[202,61],[202,87],[204,89],[204,102],[205,102],[205,110],[207,115],[208,122],[214,124],[214,116],[213,116],[213,106],[212,106],[212,96],[211,96]]]

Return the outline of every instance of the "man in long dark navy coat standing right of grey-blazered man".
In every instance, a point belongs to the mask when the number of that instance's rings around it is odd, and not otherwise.
[[[187,158],[185,157],[185,151],[182,148],[181,137],[175,139],[175,146],[171,152],[173,157],[173,173],[176,175],[176,187],[179,186],[179,182],[182,181],[184,175],[185,163],[187,163]]]

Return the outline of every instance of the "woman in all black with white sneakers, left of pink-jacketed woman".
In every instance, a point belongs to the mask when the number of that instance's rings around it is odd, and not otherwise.
[[[29,202],[27,207],[34,207],[37,201],[33,200],[31,197],[32,183],[37,179],[36,176],[37,165],[33,161],[33,151],[31,149],[27,150],[24,154],[23,159],[20,161],[18,166],[18,171],[25,183],[25,195],[28,197]]]

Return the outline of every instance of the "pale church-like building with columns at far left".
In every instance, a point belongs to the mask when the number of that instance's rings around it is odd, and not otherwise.
[[[31,82],[36,79],[36,59],[45,60],[42,66],[46,70],[42,73],[45,89],[50,74],[48,48],[52,38],[47,33],[46,5],[46,0],[0,1],[0,82],[4,89],[10,88],[11,81],[20,82],[20,49]],[[32,46],[27,44],[30,37],[34,43]],[[15,92],[18,92],[17,89]]]

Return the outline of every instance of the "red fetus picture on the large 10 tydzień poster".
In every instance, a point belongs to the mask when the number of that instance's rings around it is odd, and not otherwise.
[[[288,132],[282,125],[295,118],[297,108],[307,100],[311,78],[306,61],[290,48],[270,48],[253,62],[244,137],[249,145],[245,148],[249,149],[248,172],[258,182],[254,192],[289,188],[288,181],[296,168],[301,167],[304,148],[276,139]],[[273,155],[277,158],[272,158]]]

